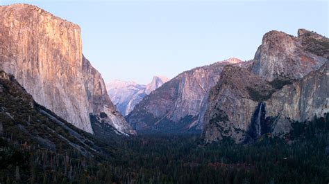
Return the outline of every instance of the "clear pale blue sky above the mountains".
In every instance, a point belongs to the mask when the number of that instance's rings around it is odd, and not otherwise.
[[[31,3],[82,30],[106,81],[150,82],[229,57],[252,59],[269,30],[328,37],[328,1],[8,1]]]

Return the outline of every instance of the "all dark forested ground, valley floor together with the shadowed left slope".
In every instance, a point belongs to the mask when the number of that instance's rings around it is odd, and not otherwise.
[[[199,134],[96,138],[0,79],[0,183],[328,183],[329,116],[281,138],[205,144]]]

